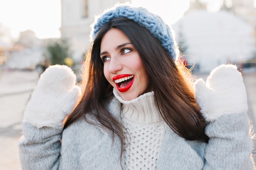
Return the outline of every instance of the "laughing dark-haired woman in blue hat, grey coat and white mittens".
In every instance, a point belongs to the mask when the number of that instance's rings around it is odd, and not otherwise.
[[[254,168],[236,66],[214,69],[194,92],[171,29],[143,8],[103,13],[92,40],[80,98],[69,68],[40,77],[25,110],[23,169]]]

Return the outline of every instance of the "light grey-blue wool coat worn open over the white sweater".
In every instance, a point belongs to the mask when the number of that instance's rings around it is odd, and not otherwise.
[[[110,112],[120,119],[114,98]],[[121,170],[120,142],[99,126],[80,119],[63,131],[23,124],[20,160],[23,170]],[[244,113],[223,115],[207,125],[209,143],[187,141],[168,128],[157,170],[253,170],[249,120]],[[62,143],[61,143],[62,138]]]

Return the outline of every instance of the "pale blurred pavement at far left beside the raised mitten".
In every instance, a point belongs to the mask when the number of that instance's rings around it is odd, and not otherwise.
[[[0,170],[21,170],[18,155],[21,121],[37,81],[36,71],[5,71],[0,75]]]

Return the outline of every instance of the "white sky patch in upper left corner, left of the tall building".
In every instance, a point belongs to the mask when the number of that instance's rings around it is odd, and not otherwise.
[[[0,24],[13,38],[32,30],[38,38],[60,38],[61,0],[0,0]]]

